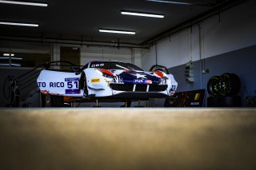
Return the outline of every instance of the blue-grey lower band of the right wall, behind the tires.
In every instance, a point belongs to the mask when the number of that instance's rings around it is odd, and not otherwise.
[[[194,83],[187,83],[184,77],[186,65],[178,65],[170,68],[170,73],[175,75],[178,81],[178,92],[194,89],[206,89],[207,82],[212,76],[220,76],[222,73],[236,73],[241,80],[241,90],[238,93],[242,97],[242,106],[246,106],[246,97],[256,95],[256,45],[222,53],[218,56],[208,57],[203,61],[194,61]],[[200,65],[205,65],[210,73],[200,75]],[[201,84],[202,82],[202,84]],[[206,97],[209,97],[206,93]]]

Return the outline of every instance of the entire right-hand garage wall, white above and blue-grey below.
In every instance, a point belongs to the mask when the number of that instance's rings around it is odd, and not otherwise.
[[[237,73],[242,80],[242,103],[255,95],[256,81],[256,2],[248,1],[219,16],[166,38],[150,51],[142,50],[142,69],[157,63],[165,65],[178,81],[178,91],[206,89],[210,77],[222,73]],[[201,42],[201,46],[200,46]],[[157,51],[157,53],[156,53]],[[200,55],[201,54],[201,55]],[[185,64],[192,60],[194,83],[185,80]],[[210,69],[210,73],[201,73]]]

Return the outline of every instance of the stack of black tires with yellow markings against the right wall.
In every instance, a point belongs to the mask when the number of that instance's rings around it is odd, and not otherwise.
[[[221,76],[210,77],[207,83],[208,107],[241,107],[241,97],[238,93],[241,81],[234,73],[223,73]]]

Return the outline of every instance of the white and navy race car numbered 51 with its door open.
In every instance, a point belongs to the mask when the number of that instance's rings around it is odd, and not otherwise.
[[[43,94],[120,100],[171,97],[178,86],[160,65],[146,72],[121,61],[91,61],[74,71],[42,69],[37,83]]]

